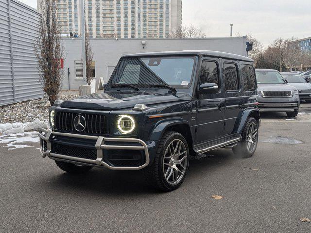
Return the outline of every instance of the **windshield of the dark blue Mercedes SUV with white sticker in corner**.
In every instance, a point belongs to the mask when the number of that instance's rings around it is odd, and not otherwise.
[[[194,57],[123,58],[111,76],[107,89],[143,89],[156,85],[189,88],[194,64]]]

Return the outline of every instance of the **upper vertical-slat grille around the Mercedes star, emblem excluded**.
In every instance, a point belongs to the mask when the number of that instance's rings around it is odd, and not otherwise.
[[[74,126],[76,116],[85,118],[85,129],[78,131]],[[70,112],[57,112],[55,117],[55,127],[57,130],[70,133],[84,134],[105,134],[107,132],[107,117],[101,114],[79,114]]]

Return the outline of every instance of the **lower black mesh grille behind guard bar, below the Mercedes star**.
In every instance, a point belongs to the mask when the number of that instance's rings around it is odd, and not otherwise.
[[[68,146],[63,144],[54,143],[53,149],[55,154],[62,154],[72,156],[76,158],[92,159],[96,160],[96,149],[90,149],[85,147]]]

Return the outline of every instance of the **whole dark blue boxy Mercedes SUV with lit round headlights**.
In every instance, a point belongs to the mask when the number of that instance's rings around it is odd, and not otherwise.
[[[225,147],[250,157],[260,125],[252,62],[215,51],[122,56],[103,93],[50,108],[41,155],[72,173],[144,169],[164,191],[184,181],[190,155]]]

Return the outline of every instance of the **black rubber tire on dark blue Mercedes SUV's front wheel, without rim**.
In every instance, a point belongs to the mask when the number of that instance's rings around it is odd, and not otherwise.
[[[180,167],[178,167],[178,169],[180,169],[181,171],[184,171],[183,172],[183,176],[180,177],[180,180],[178,182],[177,182],[177,179],[176,179],[176,183],[172,184],[172,183],[169,183],[170,181],[167,181],[166,176],[164,174],[165,173],[165,167],[164,166],[168,166],[168,165],[164,165],[164,159],[167,161],[168,157],[165,157],[165,155],[168,156],[168,154],[165,154],[165,152],[167,150],[169,150],[168,147],[171,145],[171,143],[173,144],[175,141],[176,142],[179,142],[179,141],[183,142],[184,150],[187,153],[186,154],[187,157],[184,159],[186,165],[184,164],[184,166],[182,166],[183,168],[185,168],[185,170],[183,170]],[[179,159],[180,159],[181,156],[182,155],[179,155]],[[182,157],[184,157],[184,156],[182,156]],[[186,174],[187,174],[187,171],[188,171],[188,166],[189,166],[189,157],[190,156],[189,156],[188,144],[187,144],[186,139],[183,137],[183,135],[178,133],[178,132],[173,132],[173,131],[165,132],[163,134],[163,137],[161,138],[161,140],[159,142],[159,145],[158,145],[158,148],[157,148],[157,151],[156,151],[156,154],[155,154],[155,159],[154,159],[153,164],[150,165],[149,167],[147,167],[144,170],[147,183],[150,184],[152,187],[154,187],[156,189],[159,189],[159,190],[162,190],[162,191],[165,191],[165,192],[170,192],[170,191],[173,191],[173,190],[177,189],[183,183],[183,181],[185,180],[185,177],[186,177]],[[169,161],[171,161],[171,160],[169,160]],[[170,168],[168,166],[166,172],[168,172],[169,169],[172,170],[173,177],[174,176],[178,177],[178,171],[176,171],[173,168]],[[176,174],[174,172],[176,172]],[[182,174],[182,173],[180,173],[180,174]]]

